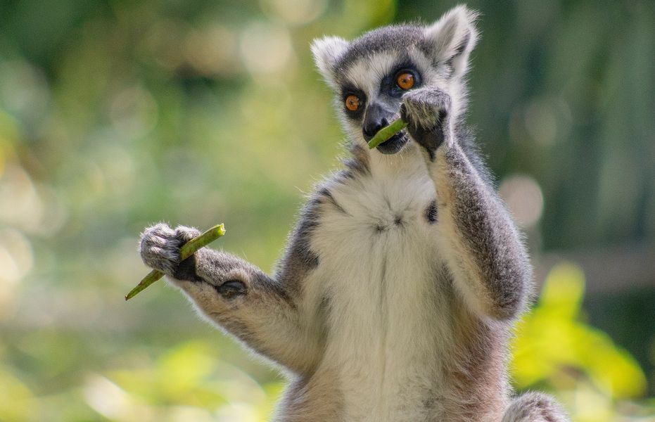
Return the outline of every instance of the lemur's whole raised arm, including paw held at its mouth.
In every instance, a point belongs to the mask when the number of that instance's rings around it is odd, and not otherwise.
[[[450,112],[440,89],[403,96],[401,115],[435,184],[439,241],[455,286],[476,313],[511,318],[526,302],[530,262],[502,201],[456,139]]]

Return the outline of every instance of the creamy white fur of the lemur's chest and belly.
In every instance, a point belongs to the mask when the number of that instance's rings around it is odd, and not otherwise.
[[[331,298],[323,365],[338,373],[348,421],[440,413],[451,291],[440,276],[431,181],[405,186],[367,186],[359,195],[333,188],[334,210],[312,240]]]

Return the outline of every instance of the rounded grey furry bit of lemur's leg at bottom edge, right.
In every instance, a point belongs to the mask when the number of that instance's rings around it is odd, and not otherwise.
[[[526,392],[512,400],[502,422],[568,422],[568,417],[548,395]]]

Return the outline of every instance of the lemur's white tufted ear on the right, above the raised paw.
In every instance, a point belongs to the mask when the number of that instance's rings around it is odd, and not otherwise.
[[[452,66],[454,77],[464,75],[469,68],[469,54],[478,41],[477,18],[477,12],[457,6],[425,29],[433,61]]]

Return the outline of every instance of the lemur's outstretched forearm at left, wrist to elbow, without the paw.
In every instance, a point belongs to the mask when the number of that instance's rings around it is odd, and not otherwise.
[[[298,374],[314,368],[319,335],[303,322],[310,319],[303,318],[305,309],[284,280],[206,248],[182,262],[174,277],[191,281],[180,287],[198,308],[260,354]]]

